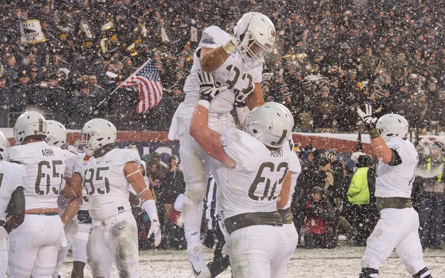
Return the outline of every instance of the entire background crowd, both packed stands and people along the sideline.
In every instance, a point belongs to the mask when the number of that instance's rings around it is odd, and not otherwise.
[[[166,131],[184,99],[202,30],[217,25],[230,33],[248,11],[275,23],[277,40],[262,88],[265,100],[289,108],[296,131],[354,133],[360,129],[356,107],[364,103],[373,105],[376,116],[405,116],[418,134],[445,131],[445,5],[423,0],[3,2],[0,127],[11,127],[33,109],[71,129],[104,117],[118,130]],[[40,21],[45,42],[20,43],[20,23],[27,20]],[[158,105],[136,114],[139,95],[132,87],[108,96],[147,59],[164,93]],[[419,152],[424,167],[413,198],[421,211],[423,245],[440,248],[445,147],[435,148]],[[339,234],[364,245],[379,217],[373,158],[356,153],[355,165],[345,166],[335,150],[307,146],[300,159],[303,172],[292,208],[304,246],[334,248]],[[180,206],[175,207],[185,186],[179,160],[172,157],[165,166],[156,153],[144,160],[164,229],[162,245],[184,248]],[[140,248],[150,248],[148,216],[136,210]],[[203,226],[203,237],[211,236],[206,231]]]

